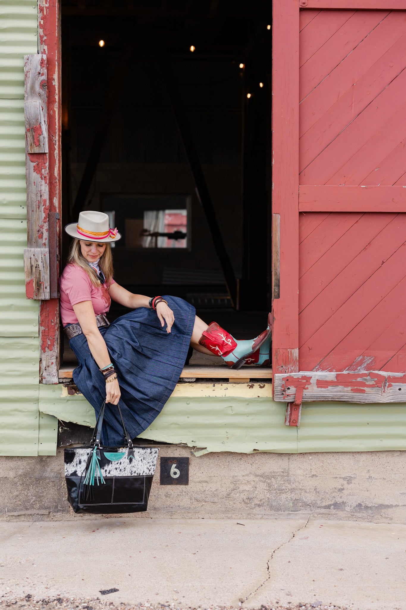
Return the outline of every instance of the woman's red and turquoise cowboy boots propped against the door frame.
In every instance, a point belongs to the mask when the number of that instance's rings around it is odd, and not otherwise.
[[[212,322],[200,337],[203,345],[215,356],[221,356],[231,368],[244,365],[266,367],[269,364],[271,346],[271,314],[268,314],[268,328],[255,339],[238,340],[225,331],[217,322]]]

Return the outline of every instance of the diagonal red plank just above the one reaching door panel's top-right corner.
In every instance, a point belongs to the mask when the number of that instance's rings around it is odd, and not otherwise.
[[[332,19],[337,16],[338,12],[331,13]],[[384,13],[374,11],[352,14],[349,20],[300,68],[299,99],[302,101],[306,98],[310,91],[317,87],[382,21],[384,16]]]

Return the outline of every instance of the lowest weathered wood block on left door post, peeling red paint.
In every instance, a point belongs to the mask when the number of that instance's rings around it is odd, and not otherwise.
[[[49,299],[49,251],[46,248],[24,249],[24,274],[27,299]]]

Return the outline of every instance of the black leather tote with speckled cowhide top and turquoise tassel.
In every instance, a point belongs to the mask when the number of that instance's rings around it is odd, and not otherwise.
[[[146,511],[158,449],[134,447],[125,429],[124,447],[101,447],[104,401],[91,444],[65,449],[68,502],[75,512]]]

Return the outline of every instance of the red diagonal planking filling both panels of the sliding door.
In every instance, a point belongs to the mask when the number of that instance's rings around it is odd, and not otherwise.
[[[406,186],[406,12],[311,10],[300,20],[299,184],[320,211],[299,214],[299,370],[403,371],[406,214],[384,201],[378,213],[323,209],[312,185]],[[357,198],[341,205],[350,210],[359,197],[343,193]]]

